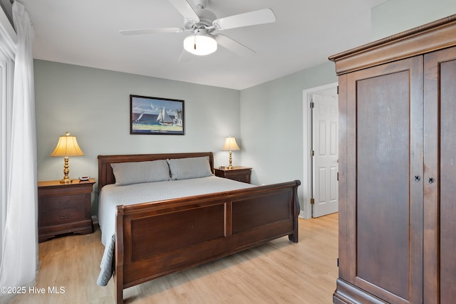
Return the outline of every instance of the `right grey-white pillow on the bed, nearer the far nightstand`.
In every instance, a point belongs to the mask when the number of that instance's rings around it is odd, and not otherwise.
[[[212,175],[209,157],[166,159],[170,165],[171,179],[195,179]]]

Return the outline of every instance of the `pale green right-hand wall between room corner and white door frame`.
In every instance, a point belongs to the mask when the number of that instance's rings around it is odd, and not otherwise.
[[[254,168],[254,184],[304,177],[303,149],[307,117],[303,90],[337,82],[333,63],[323,63],[241,92],[242,163]],[[301,210],[309,199],[299,187]]]

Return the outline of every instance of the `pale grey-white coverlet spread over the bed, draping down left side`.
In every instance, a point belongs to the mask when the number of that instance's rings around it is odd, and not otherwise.
[[[106,246],[103,253],[102,270],[98,278],[98,285],[106,285],[112,276],[112,271],[108,268],[110,268],[113,258],[116,206],[161,201],[164,199],[177,199],[185,196],[224,192],[249,187],[254,187],[254,185],[215,176],[129,184],[125,186],[106,185],[101,189],[98,196],[98,221],[101,230],[101,242]]]

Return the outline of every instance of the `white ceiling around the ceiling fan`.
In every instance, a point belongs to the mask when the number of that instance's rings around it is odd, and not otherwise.
[[[178,62],[184,33],[123,36],[119,30],[183,27],[167,0],[20,0],[35,30],[33,57],[242,90],[325,63],[368,43],[371,8],[385,0],[209,0],[217,18],[270,8],[275,23],[223,33],[257,53],[244,58],[219,47]],[[189,54],[190,55],[190,54]]]

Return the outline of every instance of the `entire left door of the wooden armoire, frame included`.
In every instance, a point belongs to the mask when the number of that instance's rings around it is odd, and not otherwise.
[[[347,170],[356,176],[348,189],[356,193],[354,283],[390,303],[420,300],[423,289],[416,273],[423,269],[423,234],[415,229],[423,196],[411,191],[423,192],[413,179],[423,172],[422,83],[422,56],[348,75],[348,108],[356,113],[348,120],[347,151]]]

